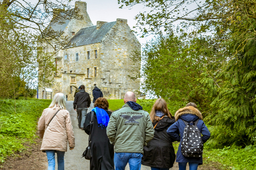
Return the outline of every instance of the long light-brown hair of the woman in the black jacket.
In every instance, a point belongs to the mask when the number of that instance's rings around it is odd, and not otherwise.
[[[172,115],[167,107],[167,103],[164,99],[157,99],[150,112],[150,119],[152,122],[159,121],[161,117],[156,116],[156,111],[161,111],[164,116],[172,118]]]

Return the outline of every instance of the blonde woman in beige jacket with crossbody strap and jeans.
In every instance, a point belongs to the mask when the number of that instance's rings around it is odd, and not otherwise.
[[[48,170],[55,169],[55,152],[57,152],[58,170],[63,170],[67,143],[70,150],[75,147],[73,126],[69,112],[66,110],[64,94],[55,94],[49,108],[44,109],[38,121],[38,134],[41,139],[43,138],[41,150],[46,152]]]

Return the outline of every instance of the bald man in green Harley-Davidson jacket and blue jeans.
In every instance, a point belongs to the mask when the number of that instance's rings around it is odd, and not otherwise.
[[[139,170],[143,147],[154,137],[149,114],[136,101],[133,92],[126,92],[125,105],[111,114],[107,126],[110,143],[115,145],[116,170],[124,170],[127,163],[130,169]]]

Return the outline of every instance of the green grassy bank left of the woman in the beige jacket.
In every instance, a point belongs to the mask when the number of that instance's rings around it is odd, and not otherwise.
[[[51,100],[0,100],[0,163],[15,152],[25,149],[23,144],[33,142],[37,118]]]

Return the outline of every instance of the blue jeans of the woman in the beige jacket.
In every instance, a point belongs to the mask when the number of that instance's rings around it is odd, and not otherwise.
[[[55,169],[55,150],[45,150],[47,159],[48,159],[48,170]],[[64,155],[65,152],[58,151],[57,152],[57,161],[58,161],[58,170],[64,170]]]

